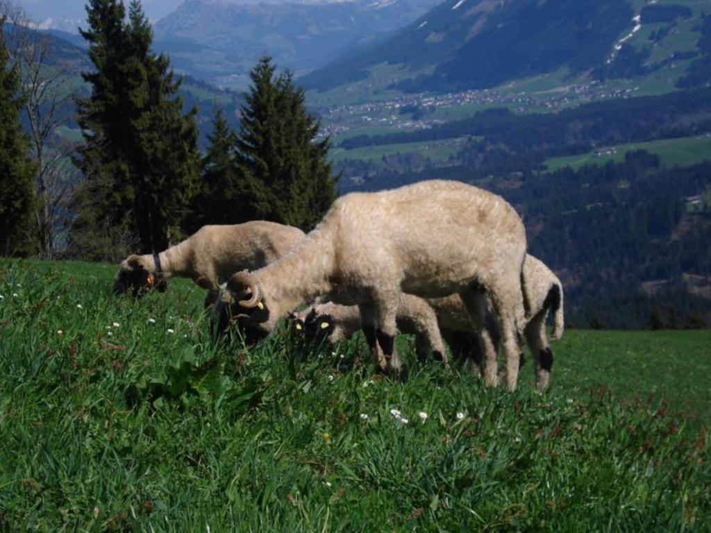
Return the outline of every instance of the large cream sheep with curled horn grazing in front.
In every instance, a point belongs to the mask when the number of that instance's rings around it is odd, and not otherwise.
[[[517,335],[525,319],[525,247],[525,228],[515,210],[472,185],[433,180],[351,193],[338,198],[282,259],[230,276],[221,307],[248,328],[270,333],[279,318],[315,296],[358,305],[371,350],[382,351],[385,370],[400,372],[395,334],[402,292],[458,293],[474,320],[485,316],[488,294],[506,352],[506,384],[513,391]],[[486,330],[476,330],[490,353]],[[485,357],[485,366],[486,384],[496,385],[491,357]]]

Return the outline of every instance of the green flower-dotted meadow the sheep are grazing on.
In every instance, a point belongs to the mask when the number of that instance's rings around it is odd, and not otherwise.
[[[568,330],[552,387],[215,340],[201,291],[0,260],[0,529],[708,531],[711,333]],[[529,358],[530,359],[530,358]]]

